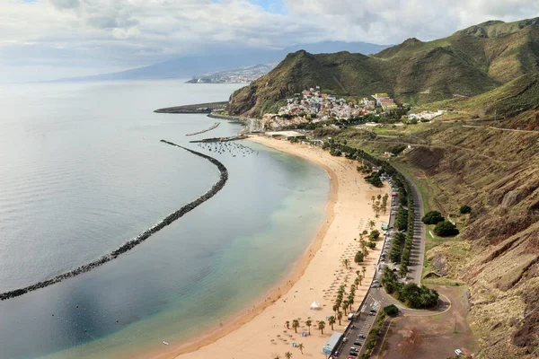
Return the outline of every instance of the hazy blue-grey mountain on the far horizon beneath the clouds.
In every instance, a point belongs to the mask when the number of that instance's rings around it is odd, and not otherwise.
[[[191,78],[199,74],[216,73],[240,67],[258,64],[278,63],[287,53],[307,48],[312,53],[335,51],[361,52],[373,54],[390,45],[376,45],[367,42],[323,41],[312,44],[300,44],[284,49],[252,48],[209,48],[203,55],[187,56],[165,61],[159,64],[137,67],[112,74],[61,79],[60,81],[108,81],[108,80],[144,80],[166,78]]]

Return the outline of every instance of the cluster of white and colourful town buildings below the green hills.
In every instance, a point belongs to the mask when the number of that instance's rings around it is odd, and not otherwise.
[[[317,123],[331,118],[358,118],[373,115],[380,117],[399,109],[388,93],[375,93],[370,98],[363,98],[358,103],[324,93],[320,86],[295,93],[287,99],[287,104],[278,109],[278,113],[263,115],[261,127],[266,130],[289,127],[302,123]],[[444,113],[423,111],[408,115],[411,121],[429,121]]]

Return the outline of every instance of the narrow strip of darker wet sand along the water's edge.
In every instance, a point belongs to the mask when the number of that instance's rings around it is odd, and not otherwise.
[[[252,137],[250,137],[248,140],[252,141]],[[257,142],[257,141],[253,141],[253,142]],[[270,147],[270,148],[273,148],[273,147]],[[292,153],[288,153],[288,154],[292,154]],[[280,299],[283,295],[286,295],[292,289],[292,287],[296,284],[296,282],[305,274],[305,270],[307,269],[307,267],[309,267],[309,264],[314,258],[314,254],[322,248],[325,234],[328,231],[331,223],[333,222],[333,219],[335,216],[333,207],[335,206],[337,202],[337,194],[339,191],[339,180],[335,172],[332,171],[330,167],[305,159],[305,157],[301,157],[301,158],[306,161],[312,162],[316,164],[317,166],[322,167],[323,170],[328,174],[328,177],[330,178],[330,196],[328,198],[328,202],[324,206],[325,216],[323,219],[323,223],[320,225],[318,232],[316,233],[314,237],[314,240],[311,241],[309,246],[305,249],[305,252],[301,256],[301,258],[297,259],[296,264],[291,269],[290,273],[287,274],[287,276],[285,276],[284,279],[280,280],[278,284],[273,285],[265,295],[262,295],[261,298],[257,298],[255,301],[253,301],[254,303],[253,307],[249,307],[251,309],[249,309],[247,312],[244,312],[243,314],[240,314],[239,318],[225,322],[225,324],[223,324],[223,327],[217,327],[217,328],[211,329],[207,331],[206,334],[203,334],[201,337],[196,338],[194,340],[190,340],[190,342],[185,343],[181,346],[178,346],[175,349],[172,349],[172,351],[168,351],[160,355],[151,355],[150,356],[151,359],[176,358],[179,355],[185,355],[185,354],[196,352],[200,348],[211,345],[215,343],[218,339],[226,337],[227,335],[234,332],[235,330],[242,328],[243,325],[245,325],[246,323],[251,322],[254,318],[260,315],[266,308],[270,307],[275,302],[277,302],[278,299]],[[270,298],[270,300],[268,300],[268,298]],[[245,311],[245,309],[243,309],[242,312],[243,311]]]

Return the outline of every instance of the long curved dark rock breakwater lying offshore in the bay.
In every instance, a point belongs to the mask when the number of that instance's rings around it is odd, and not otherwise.
[[[223,187],[225,187],[225,183],[228,180],[228,171],[226,170],[226,167],[223,163],[217,161],[215,158],[210,157],[204,153],[199,153],[197,151],[190,150],[189,148],[182,147],[179,144],[174,144],[169,141],[161,140],[164,144],[170,144],[176,147],[180,147],[181,149],[196,154],[199,157],[202,157],[209,162],[212,162],[216,165],[217,169],[220,172],[219,180],[216,181],[216,183],[206,192],[204,195],[200,196],[199,198],[195,199],[194,201],[190,202],[189,204],[182,206],[179,210],[176,212],[173,212],[171,215],[167,215],[163,220],[159,221],[158,223],[155,223],[152,227],[147,229],[145,232],[142,232],[137,235],[136,238],[133,240],[130,240],[126,243],[124,243],[122,246],[119,247],[119,249],[114,250],[110,252],[109,254],[106,254],[102,256],[101,258],[98,258],[94,260],[93,262],[87,263],[84,266],[77,267],[74,270],[71,270],[69,272],[63,273],[61,275],[55,276],[52,279],[42,281],[39,283],[36,283],[34,285],[29,285],[24,288],[15,289],[13,291],[0,293],[0,300],[5,301],[10,298],[18,297],[24,293],[32,292],[35,290],[38,290],[40,288],[44,288],[49,285],[54,285],[56,283],[59,283],[63,281],[64,279],[71,278],[74,276],[78,276],[80,274],[86,273],[91,271],[95,267],[102,266],[103,264],[110,262],[110,260],[118,258],[119,255],[128,252],[129,250],[132,250],[135,248],[138,244],[142,243],[143,241],[146,241],[152,234],[161,231],[164,227],[171,224],[172,222],[178,220],[183,215],[188,214],[190,211],[195,209],[197,206],[200,206],[204,202],[206,202],[209,198],[214,197],[216,193],[221,190]]]

